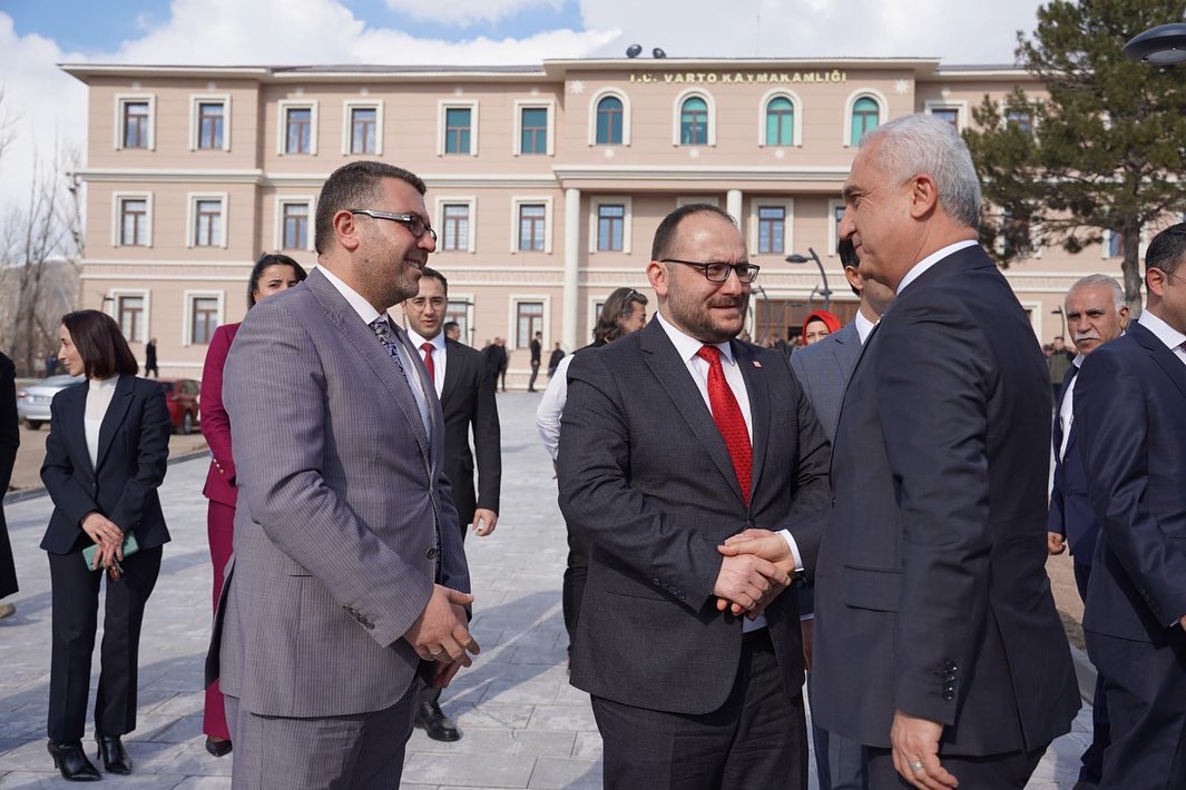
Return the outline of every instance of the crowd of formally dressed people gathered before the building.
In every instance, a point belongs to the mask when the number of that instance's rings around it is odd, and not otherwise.
[[[211,342],[204,731],[236,788],[394,788],[413,726],[461,737],[440,695],[480,649],[464,540],[498,522],[506,351],[451,336],[425,193],[391,165],[336,171],[318,266],[262,257]],[[1150,242],[1137,320],[1085,277],[1077,353],[1044,354],[978,245],[950,124],[866,135],[843,199],[855,316],[812,311],[789,359],[739,339],[759,266],[691,204],[656,231],[657,303],[613,291],[593,342],[548,360],[570,682],[605,785],[805,788],[810,738],[825,789],[1024,788],[1080,705],[1045,570],[1069,547],[1098,669],[1076,786],[1186,786],[1186,224]],[[110,317],[59,334],[87,380],[55,399],[43,468],[49,751],[89,781],[103,578],[97,749],[132,770],[168,418]],[[543,351],[536,333],[530,390]]]

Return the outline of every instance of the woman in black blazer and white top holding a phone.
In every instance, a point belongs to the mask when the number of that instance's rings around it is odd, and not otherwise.
[[[120,738],[135,728],[140,624],[168,541],[157,488],[165,479],[171,424],[164,391],[136,378],[136,360],[110,316],[69,313],[59,336],[62,365],[87,381],[53,397],[42,467],[53,500],[42,540],[53,591],[49,750],[64,778],[88,782],[100,778],[82,736],[104,576],[95,739],[109,773],[132,771]],[[139,548],[125,555],[129,532]],[[83,550],[96,544],[88,566]]]

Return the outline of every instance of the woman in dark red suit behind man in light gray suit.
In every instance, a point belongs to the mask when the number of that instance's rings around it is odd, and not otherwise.
[[[247,287],[247,308],[262,298],[279,294],[305,280],[305,270],[287,255],[263,255],[251,269],[251,278]],[[210,445],[210,471],[202,493],[210,500],[206,515],[206,532],[210,537],[210,559],[215,566],[215,609],[218,608],[218,596],[222,592],[223,570],[230,559],[232,535],[235,529],[235,502],[238,490],[235,488],[235,458],[230,451],[230,418],[222,403],[223,365],[227,352],[238,332],[237,323],[218,327],[210,339],[206,351],[206,364],[202,371],[202,435]],[[218,681],[206,688],[206,708],[202,731],[206,733],[206,751],[215,757],[230,753],[230,731],[227,728],[227,714],[223,711],[222,692]]]

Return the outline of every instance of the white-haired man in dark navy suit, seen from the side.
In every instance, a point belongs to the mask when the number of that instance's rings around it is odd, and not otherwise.
[[[812,713],[868,749],[871,788],[1024,788],[1079,707],[1045,570],[1046,365],[948,123],[866,135],[843,195],[861,275],[897,295],[836,426]]]

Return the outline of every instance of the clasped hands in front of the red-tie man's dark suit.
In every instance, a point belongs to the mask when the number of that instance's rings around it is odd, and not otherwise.
[[[753,619],[791,584],[797,560],[782,534],[746,529],[716,548],[725,559],[713,595],[718,611]]]

